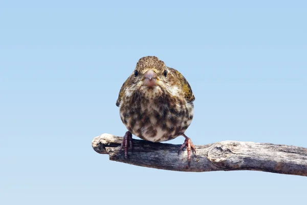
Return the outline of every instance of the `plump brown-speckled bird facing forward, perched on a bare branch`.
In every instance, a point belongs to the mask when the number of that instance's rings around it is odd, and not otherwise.
[[[191,86],[178,70],[167,67],[156,56],[140,58],[116,101],[120,118],[128,130],[120,146],[125,159],[128,159],[128,150],[133,150],[132,134],[151,142],[183,136],[185,141],[178,154],[187,147],[190,167],[191,151],[194,154],[196,151],[185,131],[193,119],[194,100]]]

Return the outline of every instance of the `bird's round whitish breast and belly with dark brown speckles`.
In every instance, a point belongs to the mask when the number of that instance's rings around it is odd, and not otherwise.
[[[184,133],[193,118],[193,104],[184,98],[131,95],[122,101],[120,116],[134,135],[153,142],[167,141]]]

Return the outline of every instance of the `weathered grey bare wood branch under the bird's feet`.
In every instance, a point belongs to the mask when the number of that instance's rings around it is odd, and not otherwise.
[[[108,154],[109,159],[142,167],[185,171],[255,170],[280,174],[307,176],[307,149],[302,147],[256,143],[249,141],[221,141],[195,146],[190,168],[187,152],[178,155],[180,145],[133,140],[134,151],[126,161],[120,152],[122,137],[102,134],[92,141],[93,149]]]

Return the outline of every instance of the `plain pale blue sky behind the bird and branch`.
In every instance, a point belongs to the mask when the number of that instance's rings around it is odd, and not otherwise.
[[[126,131],[115,102],[146,55],[189,80],[194,144],[307,147],[305,1],[50,2],[0,2],[1,204],[305,202],[306,177],[148,169],[91,147]]]

